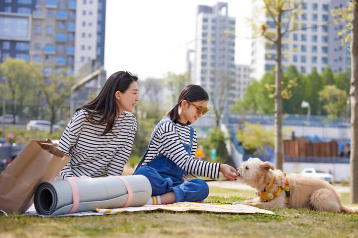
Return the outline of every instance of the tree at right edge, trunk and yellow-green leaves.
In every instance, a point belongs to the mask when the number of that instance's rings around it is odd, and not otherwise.
[[[332,10],[332,15],[340,15],[338,20],[347,21],[347,29],[339,35],[347,34],[344,43],[350,42],[351,50],[351,176],[350,176],[350,201],[358,203],[358,0],[351,0],[349,7],[341,7]],[[336,22],[336,23],[337,23]]]

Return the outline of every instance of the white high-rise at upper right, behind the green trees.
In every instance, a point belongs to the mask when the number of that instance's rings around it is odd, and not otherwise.
[[[333,72],[345,71],[350,68],[350,53],[342,45],[342,36],[338,32],[346,28],[346,22],[335,25],[332,21],[331,9],[348,6],[349,0],[304,0],[302,11],[298,16],[301,28],[285,35],[288,43],[282,45],[282,69],[295,65],[301,73],[310,73],[316,68],[318,73],[329,65]],[[255,8],[254,8],[255,9]],[[269,28],[275,23],[270,17],[264,19]],[[275,65],[275,45],[268,46],[262,38],[252,41],[251,78],[260,80],[267,70]]]

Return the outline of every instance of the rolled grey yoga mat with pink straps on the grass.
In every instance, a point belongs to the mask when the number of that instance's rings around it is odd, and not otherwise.
[[[126,184],[121,180],[125,179]],[[69,181],[41,183],[34,196],[35,209],[41,215],[62,215],[72,212],[92,211],[95,208],[117,208],[145,205],[151,195],[152,186],[142,175],[105,177],[95,179],[74,179],[78,189],[78,208],[73,210],[73,191]],[[76,189],[75,189],[76,190]],[[131,198],[130,190],[133,192]],[[129,193],[128,193],[129,191]],[[129,199],[128,199],[129,198]],[[76,201],[76,196],[75,196]],[[75,202],[76,203],[76,202]]]

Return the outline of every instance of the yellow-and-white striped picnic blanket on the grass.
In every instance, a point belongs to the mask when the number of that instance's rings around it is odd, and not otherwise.
[[[145,205],[142,207],[126,207],[114,209],[97,208],[95,211],[102,214],[118,214],[122,212],[139,212],[139,211],[153,211],[153,210],[170,210],[170,211],[201,211],[201,212],[215,212],[215,213],[263,213],[274,214],[271,211],[243,205],[243,204],[220,204],[220,203],[199,203],[199,202],[178,202],[169,205]]]

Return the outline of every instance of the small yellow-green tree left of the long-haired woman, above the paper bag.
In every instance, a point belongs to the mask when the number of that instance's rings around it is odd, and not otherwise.
[[[36,65],[36,76],[39,86],[49,106],[50,111],[50,134],[55,123],[56,113],[66,99],[71,95],[71,88],[76,82],[76,75],[65,67],[45,68],[44,73],[40,65]]]

